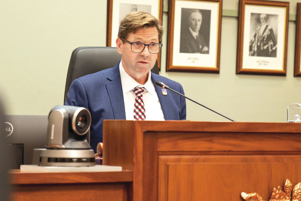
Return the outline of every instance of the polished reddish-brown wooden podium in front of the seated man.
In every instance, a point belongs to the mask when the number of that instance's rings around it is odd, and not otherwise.
[[[301,182],[301,124],[104,121],[103,165],[133,171],[133,200],[269,200]]]

